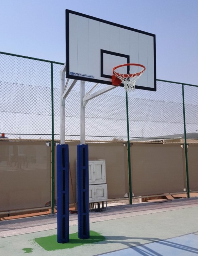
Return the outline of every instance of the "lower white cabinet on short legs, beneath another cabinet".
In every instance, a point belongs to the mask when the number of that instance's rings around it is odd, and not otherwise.
[[[107,184],[89,185],[89,202],[107,200]]]

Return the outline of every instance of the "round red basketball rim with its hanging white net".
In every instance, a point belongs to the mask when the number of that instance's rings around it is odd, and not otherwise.
[[[135,65],[122,66],[114,70],[114,75],[122,81],[125,91],[134,91],[135,82],[141,77],[144,71],[144,68]]]

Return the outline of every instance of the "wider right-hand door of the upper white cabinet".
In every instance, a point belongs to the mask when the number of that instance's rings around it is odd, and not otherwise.
[[[94,162],[94,183],[101,184],[106,182],[105,160]]]

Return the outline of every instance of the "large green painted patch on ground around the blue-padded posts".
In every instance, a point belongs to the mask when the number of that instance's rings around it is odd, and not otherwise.
[[[101,234],[90,231],[90,238],[89,239],[79,239],[78,232],[69,234],[69,242],[68,243],[57,243],[57,235],[48,236],[48,237],[39,237],[35,238],[34,241],[42,246],[46,251],[55,251],[67,248],[73,248],[76,246],[80,246],[83,244],[92,244],[104,241],[105,237]]]

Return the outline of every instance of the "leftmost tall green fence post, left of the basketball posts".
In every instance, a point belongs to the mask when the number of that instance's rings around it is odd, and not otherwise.
[[[51,214],[54,214],[54,86],[53,86],[53,62],[51,62],[51,106],[52,106],[52,203],[51,203]]]

